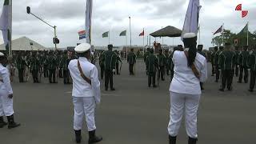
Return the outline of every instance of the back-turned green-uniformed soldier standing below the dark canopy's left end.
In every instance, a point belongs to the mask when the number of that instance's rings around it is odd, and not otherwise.
[[[148,86],[151,86],[151,82],[153,79],[153,87],[157,87],[155,85],[155,75],[157,73],[158,68],[158,58],[154,56],[154,50],[150,49],[150,54],[146,58],[146,70],[148,74]]]

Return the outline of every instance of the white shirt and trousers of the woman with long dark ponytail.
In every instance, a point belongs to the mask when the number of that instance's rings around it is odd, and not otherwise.
[[[170,136],[177,136],[182,122],[182,115],[186,116],[186,133],[190,138],[198,138],[197,111],[201,96],[200,82],[207,78],[206,58],[197,54],[194,65],[200,73],[200,81],[188,67],[187,58],[183,51],[175,51],[173,56],[174,78],[170,83],[170,122],[168,132]]]

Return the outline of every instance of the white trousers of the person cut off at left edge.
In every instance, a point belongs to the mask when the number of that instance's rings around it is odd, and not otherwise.
[[[8,98],[6,90],[0,89],[0,117],[14,114],[13,98]]]

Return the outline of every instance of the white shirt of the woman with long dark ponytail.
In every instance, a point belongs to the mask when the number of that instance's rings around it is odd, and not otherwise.
[[[197,54],[194,65],[200,73],[200,80],[195,77],[191,68],[187,65],[184,51],[175,51],[173,56],[174,78],[170,83],[170,91],[179,94],[202,94],[200,82],[206,82],[207,63],[206,58]]]

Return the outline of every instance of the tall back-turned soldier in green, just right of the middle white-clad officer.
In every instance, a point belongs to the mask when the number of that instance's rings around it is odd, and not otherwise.
[[[105,64],[105,90],[108,90],[110,84],[110,90],[115,90],[113,86],[113,73],[115,72],[116,55],[114,54],[113,45],[108,45],[108,50],[104,52],[102,62]]]

